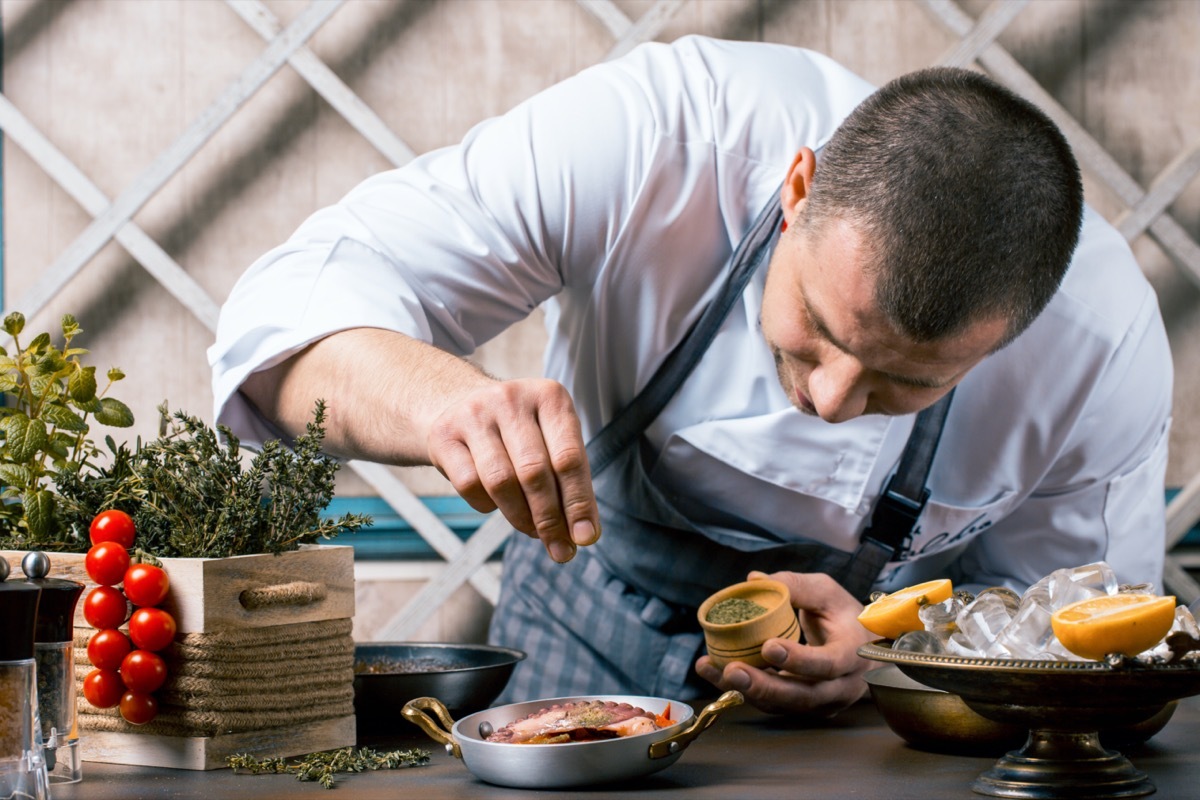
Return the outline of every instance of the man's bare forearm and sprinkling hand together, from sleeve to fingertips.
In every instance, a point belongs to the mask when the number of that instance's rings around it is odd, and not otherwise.
[[[395,331],[326,336],[250,375],[242,392],[284,431],[329,404],[325,447],[380,464],[432,464],[478,511],[500,510],[556,561],[600,537],[580,417],[553,380],[497,380]]]

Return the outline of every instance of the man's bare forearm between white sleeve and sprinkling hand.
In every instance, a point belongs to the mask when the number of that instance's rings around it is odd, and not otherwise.
[[[253,373],[241,392],[292,435],[312,409],[328,409],[325,449],[379,463],[428,464],[430,425],[456,397],[492,379],[454,355],[402,333],[353,329]]]

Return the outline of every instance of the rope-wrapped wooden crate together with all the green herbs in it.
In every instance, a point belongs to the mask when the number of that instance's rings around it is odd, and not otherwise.
[[[317,541],[370,518],[322,516],[338,470],[322,452],[324,403],[290,446],[272,440],[250,452],[228,429],[163,405],[156,439],[131,447],[106,437],[104,452],[91,423],[133,422],[107,396],[124,375],[112,369],[98,386],[73,344],[72,317],[61,349],[46,333],[24,343],[23,327],[20,314],[5,319],[16,344],[0,350],[0,558],[16,566],[28,551],[49,551],[52,575],[90,593],[89,527],[97,512],[124,511],[142,551],[134,560],[169,577],[161,608],[178,626],[161,651],[167,679],[149,721],[94,708],[80,688],[83,758],[220,769],[241,752],[284,758],[353,745],[353,548]],[[97,633],[84,604],[74,620],[80,680],[94,670],[88,643]]]

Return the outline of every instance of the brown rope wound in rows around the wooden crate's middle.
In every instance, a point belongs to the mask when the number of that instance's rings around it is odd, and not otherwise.
[[[354,640],[349,619],[185,633],[161,655],[167,682],[158,715],[133,726],[118,709],[97,709],[78,692],[83,730],[167,736],[289,727],[354,714]],[[91,672],[88,639],[77,628],[76,680]]]

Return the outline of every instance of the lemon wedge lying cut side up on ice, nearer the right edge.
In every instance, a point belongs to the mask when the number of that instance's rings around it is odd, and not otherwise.
[[[1050,615],[1050,627],[1062,646],[1096,661],[1110,652],[1135,656],[1154,646],[1174,621],[1174,596],[1140,594],[1080,600]]]

